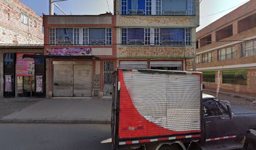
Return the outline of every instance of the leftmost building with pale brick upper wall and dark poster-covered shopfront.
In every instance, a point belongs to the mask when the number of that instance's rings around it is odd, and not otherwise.
[[[44,96],[43,83],[35,81],[44,82],[44,61],[22,59],[43,54],[42,18],[18,0],[1,0],[0,14],[0,98]]]

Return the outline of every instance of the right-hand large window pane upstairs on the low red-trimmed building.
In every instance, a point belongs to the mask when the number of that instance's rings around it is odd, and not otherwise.
[[[89,29],[89,44],[104,45],[105,38],[105,29]]]

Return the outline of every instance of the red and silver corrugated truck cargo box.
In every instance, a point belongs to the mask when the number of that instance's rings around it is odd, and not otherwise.
[[[112,148],[200,138],[201,78],[186,71],[115,71]]]

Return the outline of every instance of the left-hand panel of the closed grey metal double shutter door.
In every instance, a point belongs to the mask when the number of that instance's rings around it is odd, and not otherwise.
[[[53,65],[53,96],[72,96],[72,64]]]

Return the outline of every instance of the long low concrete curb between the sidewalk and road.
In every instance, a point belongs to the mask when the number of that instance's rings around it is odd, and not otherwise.
[[[0,123],[17,124],[110,124],[111,121],[97,120],[24,120],[24,119],[0,119]]]

